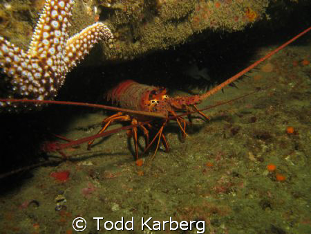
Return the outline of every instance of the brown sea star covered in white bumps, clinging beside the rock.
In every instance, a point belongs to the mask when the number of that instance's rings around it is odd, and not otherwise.
[[[100,39],[113,38],[111,30],[101,22],[68,38],[73,4],[73,0],[46,0],[26,53],[0,36],[1,98],[55,98],[66,74],[93,45]],[[8,104],[0,102],[0,107]],[[17,110],[21,107],[12,106]]]

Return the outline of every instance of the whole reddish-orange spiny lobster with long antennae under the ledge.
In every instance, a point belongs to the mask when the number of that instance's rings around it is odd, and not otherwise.
[[[60,101],[53,101],[53,100],[18,100],[18,99],[0,99],[0,102],[35,102],[35,103],[55,103],[55,104],[62,104],[62,105],[80,105],[80,106],[87,106],[87,107],[100,107],[103,109],[110,109],[114,111],[119,111],[117,114],[113,114],[103,121],[103,127],[100,132],[94,136],[88,136],[86,138],[81,138],[77,141],[70,141],[64,144],[50,144],[45,147],[44,150],[48,152],[52,151],[59,151],[61,152],[62,149],[66,147],[70,147],[73,145],[79,145],[81,143],[88,142],[88,149],[91,149],[91,145],[96,138],[100,138],[102,136],[106,136],[109,134],[113,134],[114,132],[119,131],[120,129],[115,129],[112,131],[105,132],[107,127],[111,125],[115,121],[131,121],[131,125],[122,127],[121,129],[130,129],[131,136],[134,138],[135,143],[135,158],[138,159],[138,128],[142,129],[144,136],[147,138],[147,144],[145,147],[144,152],[146,152],[149,147],[153,144],[154,141],[158,138],[158,143],[156,145],[156,151],[153,156],[156,154],[158,147],[160,145],[160,141],[164,145],[166,150],[169,150],[169,145],[167,143],[167,139],[163,134],[164,127],[167,125],[169,120],[176,120],[178,126],[182,131],[182,135],[186,136],[186,126],[187,121],[182,118],[182,116],[187,115],[189,120],[191,120],[190,115],[193,113],[200,114],[203,118],[209,119],[204,113],[202,113],[203,109],[198,109],[196,105],[198,105],[202,100],[205,100],[209,96],[213,95],[220,89],[223,89],[228,84],[236,81],[242,75],[253,69],[255,66],[260,64],[261,62],[267,60],[267,58],[271,57],[278,51],[280,51],[288,44],[294,42],[297,38],[301,37],[305,33],[311,30],[311,27],[305,29],[303,32],[299,33],[285,44],[279,46],[274,51],[268,53],[260,60],[254,62],[254,64],[248,66],[243,71],[237,73],[232,78],[229,78],[225,82],[219,84],[214,89],[207,91],[202,95],[195,95],[195,96],[179,96],[175,98],[171,98],[167,95],[167,90],[162,87],[153,87],[147,86],[144,84],[138,84],[133,80],[126,80],[117,84],[116,87],[111,89],[108,93],[106,93],[106,97],[108,100],[112,102],[116,102],[117,105],[120,105],[122,108],[118,107],[108,107],[104,105],[95,105],[89,103],[77,103],[77,102],[60,102]],[[207,107],[209,108],[209,107]],[[205,108],[205,109],[207,109]],[[184,114],[178,115],[177,112],[182,111]],[[154,136],[153,140],[149,143],[149,130],[154,129],[151,125],[151,121],[155,118],[162,118],[160,129],[158,129],[157,134]]]

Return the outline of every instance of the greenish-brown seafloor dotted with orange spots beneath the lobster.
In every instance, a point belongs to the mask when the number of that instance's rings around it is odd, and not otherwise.
[[[263,47],[258,56],[271,50]],[[263,89],[205,111],[211,120],[194,119],[185,142],[171,121],[171,151],[159,150],[151,161],[151,150],[141,167],[125,132],[97,140],[91,151],[85,144],[64,150],[68,161],[33,169],[33,177],[1,195],[0,233],[75,233],[75,217],[86,219],[86,233],[106,233],[104,222],[121,217],[134,219],[128,233],[311,233],[311,64],[302,63],[311,60],[310,51],[310,44],[288,46],[238,89],[228,87],[203,102],[200,107]],[[76,116],[57,134],[95,134],[104,117],[103,111]],[[267,170],[271,163],[274,172]],[[66,181],[50,177],[62,171],[70,172]],[[100,231],[93,217],[104,218]],[[141,231],[142,217],[153,217],[149,226],[169,217],[205,224],[191,231],[169,231],[168,224],[165,231]]]

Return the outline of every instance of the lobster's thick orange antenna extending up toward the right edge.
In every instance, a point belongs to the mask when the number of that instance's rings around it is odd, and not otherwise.
[[[275,53],[281,51],[281,49],[283,49],[285,46],[288,46],[289,44],[291,44],[292,42],[294,42],[296,39],[298,39],[299,37],[301,37],[302,35],[304,35],[305,33],[308,33],[308,31],[311,30],[311,27],[303,30],[303,32],[299,33],[299,35],[296,35],[296,37],[293,37],[292,39],[290,39],[288,42],[285,42],[283,45],[279,46],[278,48],[276,48],[274,51],[271,51],[270,53],[267,53],[267,55],[265,55],[265,57],[262,57],[260,60],[257,60],[256,62],[254,62],[252,65],[248,66],[246,69],[240,71],[239,73],[237,73],[236,75],[232,76],[232,78],[229,78],[228,80],[226,80],[225,82],[217,85],[216,87],[214,87],[214,89],[211,89],[209,91],[207,91],[206,93],[203,93],[200,96],[200,100],[205,100],[206,98],[208,98],[209,96],[212,96],[214,93],[218,92],[220,89],[223,89],[224,87],[226,87],[228,84],[231,84],[232,82],[238,80],[238,78],[241,78],[242,75],[244,75],[245,73],[247,73],[248,71],[254,69],[255,66],[257,66],[258,64],[260,64],[261,62],[267,60],[269,57],[271,57],[272,55],[274,55]]]

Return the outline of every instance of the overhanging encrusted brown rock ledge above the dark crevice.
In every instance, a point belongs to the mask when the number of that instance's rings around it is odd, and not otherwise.
[[[102,44],[93,52],[92,62],[131,60],[135,57],[187,42],[202,31],[233,32],[252,26],[262,19],[270,19],[289,11],[304,1],[276,0],[75,0],[72,27],[77,33],[94,21],[105,21],[112,29],[115,41]],[[284,6],[288,4],[290,6]],[[44,0],[12,0],[1,3],[0,31],[13,44],[26,49],[43,8]],[[285,8],[286,7],[286,8]],[[282,10],[281,10],[282,9]],[[287,9],[287,10],[283,10]]]

